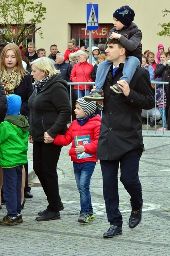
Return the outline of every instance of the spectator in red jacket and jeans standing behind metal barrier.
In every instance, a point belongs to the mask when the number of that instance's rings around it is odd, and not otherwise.
[[[94,82],[91,78],[93,65],[87,62],[88,54],[82,52],[79,56],[79,62],[73,66],[71,70],[70,80],[72,82]],[[90,85],[75,85],[76,98],[84,97],[90,93]]]

